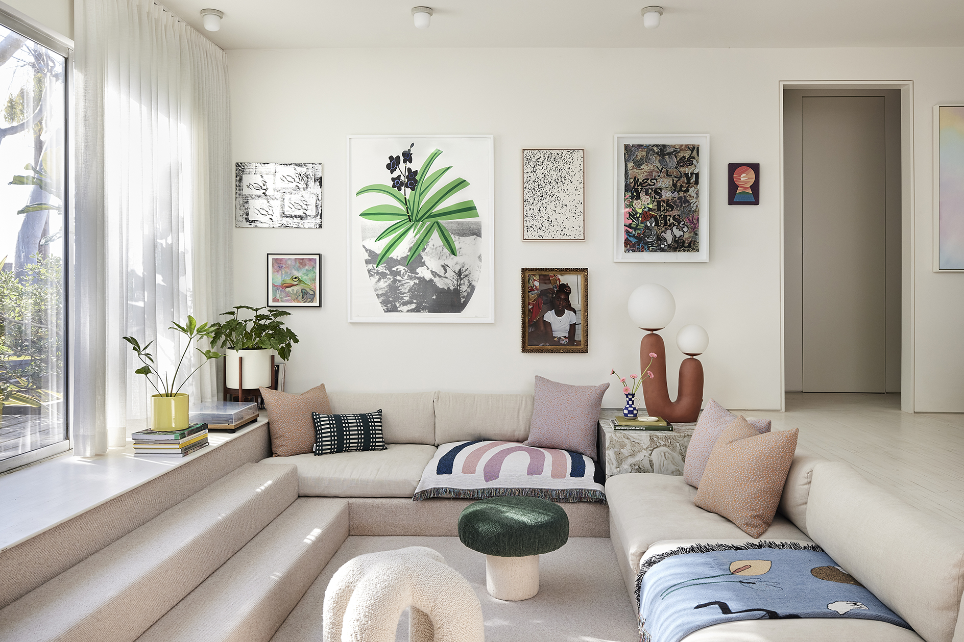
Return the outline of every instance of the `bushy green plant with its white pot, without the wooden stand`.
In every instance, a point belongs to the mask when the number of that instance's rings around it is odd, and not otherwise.
[[[241,311],[249,310],[250,319],[242,319]],[[253,308],[235,305],[233,311],[221,313],[228,321],[211,323],[211,345],[225,349],[225,385],[238,387],[238,357],[242,357],[241,377],[246,389],[264,386],[274,381],[271,370],[271,351],[278,352],[282,361],[291,356],[291,347],[298,343],[298,336],[284,326],[281,317],[291,313],[272,308]]]

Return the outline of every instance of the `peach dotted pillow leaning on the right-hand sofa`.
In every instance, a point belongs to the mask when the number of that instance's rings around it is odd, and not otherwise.
[[[694,503],[760,537],[777,512],[797,435],[796,428],[760,434],[737,415],[713,446]]]

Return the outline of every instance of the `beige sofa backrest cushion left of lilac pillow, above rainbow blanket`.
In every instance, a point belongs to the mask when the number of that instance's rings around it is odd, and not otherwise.
[[[438,395],[436,445],[475,439],[523,442],[529,437],[533,395]]]

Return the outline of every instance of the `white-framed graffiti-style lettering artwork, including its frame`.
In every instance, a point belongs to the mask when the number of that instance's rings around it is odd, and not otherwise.
[[[710,136],[617,134],[613,260],[710,260]]]

